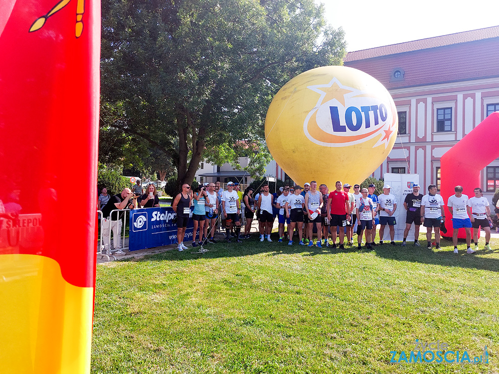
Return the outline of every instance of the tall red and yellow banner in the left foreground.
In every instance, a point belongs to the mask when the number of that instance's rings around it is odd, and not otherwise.
[[[0,371],[88,373],[100,1],[0,3]]]

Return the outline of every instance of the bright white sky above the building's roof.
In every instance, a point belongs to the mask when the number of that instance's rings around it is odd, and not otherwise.
[[[317,0],[347,51],[499,25],[499,0]]]

